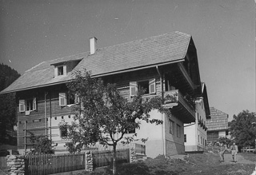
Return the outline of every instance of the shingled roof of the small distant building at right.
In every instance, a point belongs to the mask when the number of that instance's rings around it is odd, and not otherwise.
[[[208,131],[228,129],[228,114],[210,107],[210,119],[206,120]]]

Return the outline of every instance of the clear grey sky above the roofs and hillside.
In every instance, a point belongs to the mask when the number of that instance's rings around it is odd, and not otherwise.
[[[0,63],[40,62],[167,32],[191,34],[210,107],[255,112],[252,0],[0,0]]]

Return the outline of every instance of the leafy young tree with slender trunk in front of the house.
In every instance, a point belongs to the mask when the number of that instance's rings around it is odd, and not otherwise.
[[[162,98],[143,98],[141,93],[134,96],[132,101],[122,97],[114,84],[104,85],[101,78],[91,78],[91,73],[82,74],[77,71],[74,80],[67,83],[70,96],[77,96],[81,103],[73,106],[74,122],[68,127],[66,144],[71,151],[80,151],[82,148],[95,144],[113,147],[113,174],[116,173],[116,146],[118,141],[128,144],[136,140],[136,133],[132,136],[125,134],[130,130],[138,129],[141,121],[162,124],[161,120],[151,119],[150,111],[168,113],[162,107]],[[145,139],[142,139],[145,141]]]

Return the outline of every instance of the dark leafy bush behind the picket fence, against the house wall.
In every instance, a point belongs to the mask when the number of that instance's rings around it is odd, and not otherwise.
[[[34,133],[30,133],[30,142],[33,147],[30,149],[31,154],[36,153],[54,153],[54,142],[45,136],[35,136]]]

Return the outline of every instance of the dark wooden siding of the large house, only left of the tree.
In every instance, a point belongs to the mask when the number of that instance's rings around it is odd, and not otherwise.
[[[25,112],[18,112],[18,149],[30,148],[30,133],[36,136],[50,134],[50,125],[48,119],[50,117],[62,117],[71,114],[71,108],[60,106],[58,103],[58,93],[66,92],[64,87],[52,89],[38,89],[38,91],[30,90],[18,93],[19,99],[37,98],[37,110],[31,111],[29,115]],[[45,116],[45,92],[46,93],[46,116]],[[17,105],[18,107],[18,105]],[[48,125],[47,125],[48,123]],[[47,132],[47,133],[46,133]],[[26,144],[26,147],[25,147]]]

